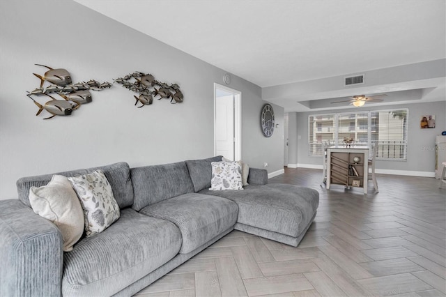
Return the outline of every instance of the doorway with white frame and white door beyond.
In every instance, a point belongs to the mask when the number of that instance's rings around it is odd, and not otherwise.
[[[214,155],[242,159],[242,93],[214,83]]]

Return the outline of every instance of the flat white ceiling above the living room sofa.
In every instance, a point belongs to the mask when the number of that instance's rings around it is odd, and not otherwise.
[[[75,1],[261,87],[446,58],[445,0]]]

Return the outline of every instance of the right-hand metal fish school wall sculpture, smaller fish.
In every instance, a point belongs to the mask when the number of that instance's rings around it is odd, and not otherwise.
[[[139,97],[134,96],[137,105],[138,102],[141,105],[151,105],[153,103],[153,98],[160,96],[160,99],[170,99],[171,103],[181,103],[183,102],[183,93],[180,91],[178,84],[166,84],[164,82],[158,82],[155,77],[151,74],[144,74],[139,71],[125,75],[125,77],[118,77],[114,79],[114,82],[122,84],[125,89],[129,89],[135,93],[139,93]]]

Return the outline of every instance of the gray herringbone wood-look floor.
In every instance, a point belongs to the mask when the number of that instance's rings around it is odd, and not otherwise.
[[[269,183],[320,193],[298,248],[233,231],[140,291],[174,296],[446,296],[446,190],[435,178],[377,174],[380,192],[321,187],[318,169]]]

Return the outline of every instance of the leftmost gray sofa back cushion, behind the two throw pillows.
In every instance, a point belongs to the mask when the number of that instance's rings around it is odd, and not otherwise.
[[[133,187],[130,179],[130,168],[126,162],[118,162],[112,165],[94,167],[89,169],[77,169],[68,172],[58,172],[55,174],[63,176],[80,176],[101,169],[112,186],[112,191],[116,202],[120,208],[133,204]],[[43,174],[39,176],[27,176],[19,178],[17,181],[17,193],[19,200],[31,207],[29,203],[29,188],[41,187],[51,181],[54,174]]]

